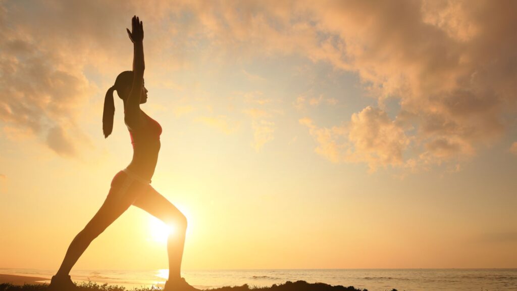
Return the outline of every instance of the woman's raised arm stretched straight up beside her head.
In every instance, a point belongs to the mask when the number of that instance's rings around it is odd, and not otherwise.
[[[129,128],[134,129],[140,123],[140,97],[144,86],[144,25],[136,16],[131,20],[132,29],[127,32],[133,42],[133,86],[126,100],[124,121]]]

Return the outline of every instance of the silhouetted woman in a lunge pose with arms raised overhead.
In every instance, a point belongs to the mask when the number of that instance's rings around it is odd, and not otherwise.
[[[133,144],[133,159],[124,170],[119,171],[111,182],[110,192],[92,220],[72,240],[61,267],[52,277],[51,290],[73,290],[77,288],[68,273],[90,242],[131,205],[139,207],[158,217],[166,224],[174,225],[175,232],[168,239],[169,280],[164,290],[199,291],[180,276],[181,257],[185,244],[187,219],[171,202],[150,185],[160,150],[161,126],[140,109],[147,101],[144,87],[144,30],[143,23],[136,16],[132,18],[132,31],[127,30],[133,42],[133,71],[121,72],[115,84],[108,89],[104,99],[102,129],[108,137],[113,129],[115,106],[113,91],[124,101],[124,121]]]

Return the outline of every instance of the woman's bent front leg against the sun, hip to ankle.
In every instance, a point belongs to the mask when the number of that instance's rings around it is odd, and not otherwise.
[[[133,205],[147,211],[159,220],[168,224],[174,230],[167,240],[169,253],[169,281],[175,282],[181,278],[181,257],[185,245],[187,218],[169,200],[163,197],[151,185],[133,202]]]

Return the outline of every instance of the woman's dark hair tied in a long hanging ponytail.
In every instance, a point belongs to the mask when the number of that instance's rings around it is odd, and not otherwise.
[[[133,86],[133,71],[123,71],[118,74],[115,84],[108,89],[104,97],[104,112],[102,113],[102,132],[104,138],[111,135],[113,131],[113,117],[115,115],[115,102],[113,101],[113,91],[117,90],[117,95],[124,102],[128,96],[121,96],[123,89]]]

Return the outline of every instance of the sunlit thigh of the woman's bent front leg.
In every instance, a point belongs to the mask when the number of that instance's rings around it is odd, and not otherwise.
[[[147,211],[164,223],[186,223],[185,215],[151,185],[148,185],[146,191],[136,198],[133,205]]]

